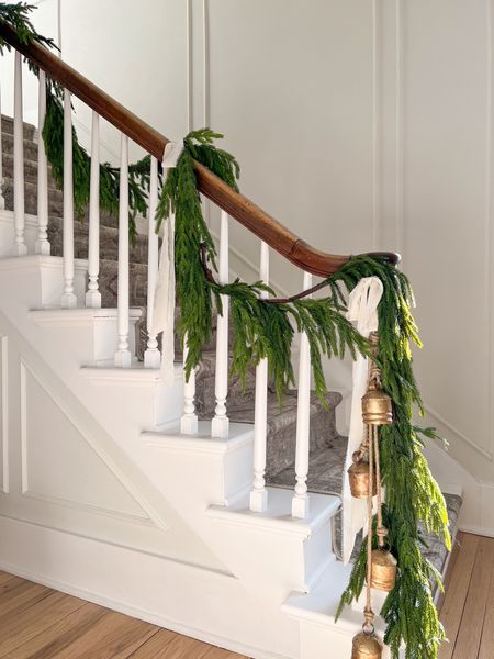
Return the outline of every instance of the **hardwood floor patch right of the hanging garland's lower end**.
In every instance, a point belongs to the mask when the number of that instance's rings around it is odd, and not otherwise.
[[[494,539],[458,534],[440,618],[449,644],[440,659],[494,658]]]

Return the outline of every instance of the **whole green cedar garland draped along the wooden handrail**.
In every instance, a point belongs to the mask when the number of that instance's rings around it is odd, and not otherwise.
[[[52,40],[38,35],[29,20],[35,7],[19,2],[0,2],[0,18],[12,25],[24,43],[35,40],[55,47]],[[0,53],[10,45],[0,38]],[[35,70],[36,72],[36,70]],[[56,181],[63,176],[63,107],[61,90],[47,82],[47,116],[43,130],[48,160]],[[204,272],[201,255],[206,254],[216,270],[215,246],[204,222],[192,160],[198,159],[233,189],[237,190],[239,167],[228,153],[214,146],[222,137],[209,129],[190,133],[184,150],[162,187],[157,216],[158,226],[170,213],[176,214],[176,275],[177,297],[181,306],[179,332],[188,336],[189,355],[186,372],[198,366],[203,346],[211,336],[213,302],[222,313],[221,297],[229,295],[234,326],[232,370],[245,380],[249,366],[260,359],[269,360],[271,378],[280,400],[284,390],[295,383],[291,365],[291,347],[295,332],[305,332],[311,346],[311,361],[317,394],[324,400],[327,392],[323,375],[323,355],[343,357],[348,350],[369,356],[369,342],[346,320],[345,294],[362,277],[379,277],[384,287],[379,304],[380,350],[378,364],[382,387],[392,398],[395,423],[380,428],[380,465],[386,503],[384,524],[393,555],[398,560],[396,585],[386,597],[381,615],[386,623],[384,641],[393,659],[397,659],[402,644],[407,659],[437,659],[445,638],[442,626],[431,596],[431,583],[440,584],[440,577],[420,551],[424,539],[419,533],[422,521],[429,532],[442,536],[448,549],[451,540],[442,494],[433,479],[423,455],[422,436],[436,438],[431,428],[413,424],[413,412],[423,412],[415,381],[411,344],[420,346],[417,327],[412,316],[413,293],[403,272],[380,258],[358,256],[325,280],[328,293],[316,300],[297,299],[279,304],[259,299],[262,291],[273,291],[262,282],[246,283],[236,280],[220,286]],[[79,145],[72,131],[75,208],[80,216],[89,200],[90,157]],[[119,170],[108,164],[100,166],[101,205],[115,212],[119,203]],[[130,168],[131,232],[135,231],[135,213],[146,212],[145,189],[149,185],[149,161],[143,159]],[[378,546],[375,521],[372,529],[373,547]],[[360,595],[367,569],[366,543],[355,563],[348,588],[341,596],[338,611]]]

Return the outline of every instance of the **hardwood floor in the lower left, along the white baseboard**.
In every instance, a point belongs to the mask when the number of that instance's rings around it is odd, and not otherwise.
[[[44,585],[0,572],[0,658],[243,659]]]

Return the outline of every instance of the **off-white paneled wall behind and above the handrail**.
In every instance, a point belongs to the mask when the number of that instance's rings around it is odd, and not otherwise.
[[[63,0],[67,60],[171,138],[224,132],[243,191],[290,228],[328,252],[403,253],[431,422],[484,482],[493,12],[492,0]],[[116,154],[117,135],[104,139]],[[237,226],[232,239],[257,263],[255,239]],[[300,289],[273,260],[273,280]]]

